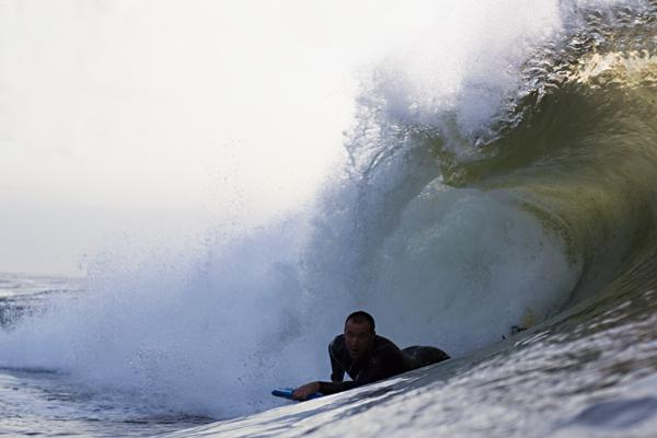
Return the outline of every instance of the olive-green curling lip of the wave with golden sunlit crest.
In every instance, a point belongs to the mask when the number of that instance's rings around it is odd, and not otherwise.
[[[512,194],[560,233],[581,264],[569,303],[600,293],[655,242],[656,12],[588,11],[565,48],[529,62],[532,88],[485,158],[452,174],[454,184]]]

